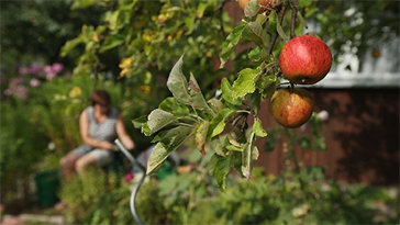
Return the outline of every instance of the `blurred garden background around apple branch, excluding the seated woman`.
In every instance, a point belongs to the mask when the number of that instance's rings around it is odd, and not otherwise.
[[[298,33],[320,36],[334,56],[331,72],[310,87],[313,119],[287,133],[263,103],[269,135],[257,143],[254,179],[232,175],[224,193],[210,177],[207,157],[201,159],[188,142],[178,150],[184,162],[179,172],[177,166],[166,166],[141,190],[143,221],[399,222],[399,1],[299,3],[308,27]],[[243,16],[236,1],[2,0],[0,7],[4,224],[132,224],[129,196],[137,176],[125,176],[131,168],[123,156],[85,179],[58,179],[60,157],[81,144],[78,116],[90,104],[90,92],[101,88],[111,93],[137,156],[151,139],[131,121],[170,95],[166,80],[180,55],[185,53],[184,70],[193,72],[210,99],[223,77],[248,66],[254,47],[243,43],[219,68],[222,44]],[[285,30],[289,20],[285,18]],[[288,143],[296,146],[301,172],[288,160]],[[67,207],[57,210],[60,200]]]

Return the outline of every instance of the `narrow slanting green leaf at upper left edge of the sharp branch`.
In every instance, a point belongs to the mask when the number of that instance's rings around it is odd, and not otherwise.
[[[221,54],[220,54],[220,60],[221,60],[220,68],[222,68],[224,66],[226,60],[233,54],[233,50],[235,49],[238,41],[241,41],[241,38],[242,38],[242,32],[245,27],[246,27],[245,23],[238,24],[232,31],[232,33],[230,35],[227,35],[225,42],[222,44],[222,49],[221,49]]]

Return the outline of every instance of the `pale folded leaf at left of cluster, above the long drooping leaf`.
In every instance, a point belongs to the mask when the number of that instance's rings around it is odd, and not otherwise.
[[[148,131],[143,130],[146,136],[153,135],[154,133],[158,132],[159,130],[164,128],[165,126],[171,124],[176,121],[174,114],[166,112],[164,110],[155,109],[148,115],[148,121],[146,123]]]

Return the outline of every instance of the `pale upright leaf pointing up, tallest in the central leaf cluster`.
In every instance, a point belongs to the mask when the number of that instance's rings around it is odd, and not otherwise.
[[[184,56],[175,64],[167,80],[167,87],[175,99],[181,104],[190,104],[188,81],[182,72]]]

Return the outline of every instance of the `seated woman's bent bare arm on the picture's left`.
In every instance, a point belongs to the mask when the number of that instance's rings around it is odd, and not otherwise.
[[[93,148],[101,148],[107,150],[112,150],[114,148],[114,145],[105,142],[105,140],[97,140],[92,138],[89,135],[89,119],[88,113],[86,110],[80,114],[79,116],[79,131],[80,131],[80,137],[82,138],[84,143],[93,147]]]

